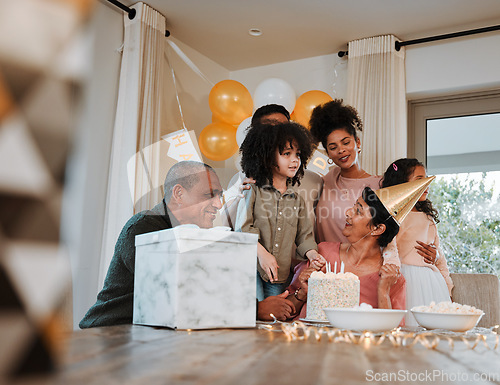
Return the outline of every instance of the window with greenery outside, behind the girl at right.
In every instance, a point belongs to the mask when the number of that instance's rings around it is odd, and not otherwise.
[[[500,91],[409,103],[408,153],[436,175],[429,199],[452,272],[500,273]]]

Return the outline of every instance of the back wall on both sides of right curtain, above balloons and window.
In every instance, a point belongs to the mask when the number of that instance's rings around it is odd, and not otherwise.
[[[407,97],[500,87],[499,46],[500,33],[492,32],[406,47]],[[234,71],[230,76],[252,94],[262,80],[279,77],[292,85],[297,96],[317,89],[342,98],[347,89],[346,61],[331,54]]]

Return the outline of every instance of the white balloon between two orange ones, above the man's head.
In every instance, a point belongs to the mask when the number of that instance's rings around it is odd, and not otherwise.
[[[291,113],[295,106],[295,91],[283,79],[270,78],[257,86],[253,101],[256,109],[266,104],[280,104]]]

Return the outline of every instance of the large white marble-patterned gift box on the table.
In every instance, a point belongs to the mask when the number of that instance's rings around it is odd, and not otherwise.
[[[133,322],[254,327],[255,234],[184,225],[136,236]]]

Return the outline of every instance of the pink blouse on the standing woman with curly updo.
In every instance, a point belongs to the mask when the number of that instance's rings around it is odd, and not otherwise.
[[[380,188],[380,176],[351,179],[340,175],[340,167],[334,167],[323,177],[323,191],[316,206],[316,241],[347,242],[342,234],[345,213],[361,196],[365,187]]]

